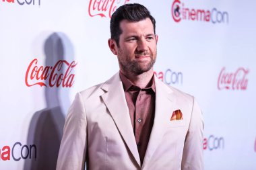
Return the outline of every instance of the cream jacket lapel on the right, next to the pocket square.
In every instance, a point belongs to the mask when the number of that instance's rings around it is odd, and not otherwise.
[[[152,155],[156,151],[156,148],[159,146],[164,133],[166,132],[166,126],[170,121],[170,116],[174,111],[175,97],[172,94],[172,90],[169,87],[166,87],[164,83],[160,82],[155,77],[156,82],[156,110],[154,125],[152,127],[152,132],[150,134],[150,141],[148,142],[148,148],[146,155],[143,160],[143,167],[150,162]]]

